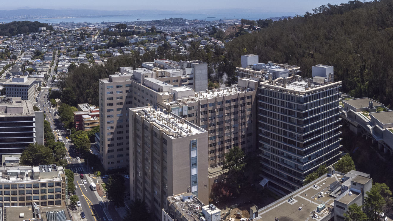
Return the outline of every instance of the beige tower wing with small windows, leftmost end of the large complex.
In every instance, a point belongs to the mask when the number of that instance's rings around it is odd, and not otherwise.
[[[99,152],[105,170],[129,167],[131,77],[125,72],[99,80]]]

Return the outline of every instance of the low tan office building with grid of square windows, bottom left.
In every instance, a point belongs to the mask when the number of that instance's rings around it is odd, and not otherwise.
[[[65,204],[68,191],[63,167],[11,166],[0,167],[0,172],[0,207]]]

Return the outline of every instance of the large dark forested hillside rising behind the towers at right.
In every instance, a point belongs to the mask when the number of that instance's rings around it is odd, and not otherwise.
[[[244,54],[257,54],[263,63],[296,64],[307,77],[312,65],[332,65],[343,92],[393,108],[393,1],[351,1],[313,11],[230,41],[227,74],[234,75]]]

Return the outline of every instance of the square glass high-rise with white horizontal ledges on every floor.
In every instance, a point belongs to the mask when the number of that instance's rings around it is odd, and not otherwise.
[[[341,156],[341,82],[334,82],[332,69],[313,66],[313,79],[269,72],[259,84],[261,176],[269,188],[290,193],[306,175]]]

